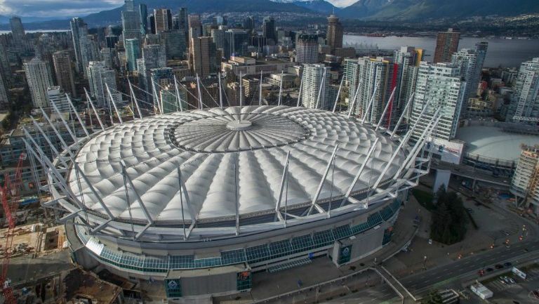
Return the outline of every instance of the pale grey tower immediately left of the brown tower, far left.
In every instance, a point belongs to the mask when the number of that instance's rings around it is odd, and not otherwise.
[[[48,107],[47,88],[53,86],[53,75],[46,62],[32,58],[25,62],[25,73],[34,107]]]

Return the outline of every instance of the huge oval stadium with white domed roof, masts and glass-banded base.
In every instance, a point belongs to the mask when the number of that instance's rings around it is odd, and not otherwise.
[[[169,300],[184,300],[381,249],[429,169],[435,124],[411,144],[415,127],[397,136],[323,110],[217,107],[115,124],[51,161],[30,152],[48,172],[46,204],[67,211],[76,263],[163,282]]]

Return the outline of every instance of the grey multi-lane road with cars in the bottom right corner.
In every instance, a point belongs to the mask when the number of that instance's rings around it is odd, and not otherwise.
[[[528,252],[526,252],[526,249]],[[413,294],[428,291],[437,284],[446,284],[455,279],[464,277],[478,277],[477,271],[481,268],[493,267],[507,261],[514,262],[523,258],[539,257],[539,241],[521,242],[513,244],[510,248],[498,248],[469,256],[446,265],[440,265],[415,275],[404,277],[400,282]]]

